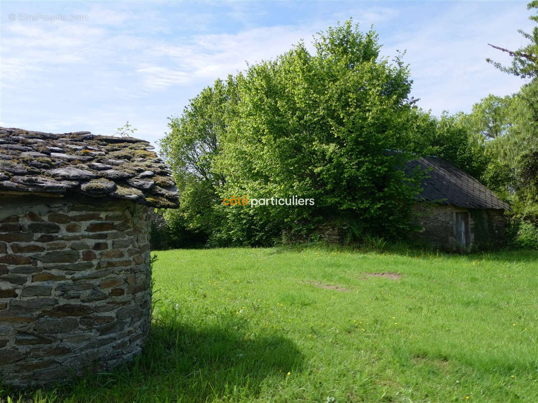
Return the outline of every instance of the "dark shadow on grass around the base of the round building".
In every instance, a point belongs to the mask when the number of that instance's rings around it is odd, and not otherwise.
[[[249,400],[259,397],[262,384],[277,393],[287,373],[302,366],[301,352],[286,337],[253,335],[240,321],[228,318],[194,325],[167,316],[153,323],[143,353],[130,364],[71,385],[3,392],[15,402]]]

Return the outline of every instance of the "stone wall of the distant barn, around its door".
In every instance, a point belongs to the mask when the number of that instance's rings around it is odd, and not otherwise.
[[[452,205],[416,203],[414,213],[422,231],[413,238],[442,250],[456,251],[456,213],[469,212],[468,251],[490,249],[504,244],[505,218],[502,210],[476,210]]]

